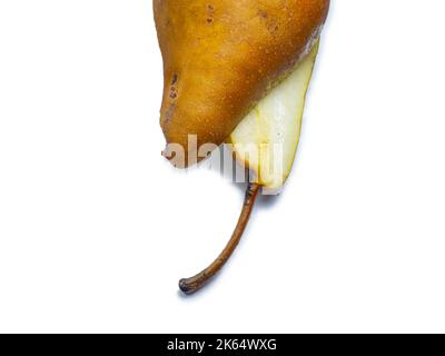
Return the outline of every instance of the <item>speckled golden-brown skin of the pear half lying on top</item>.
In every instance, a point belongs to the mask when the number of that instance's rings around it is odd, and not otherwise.
[[[224,142],[298,62],[328,8],[329,0],[154,0],[167,142],[186,151],[188,135],[198,147]]]

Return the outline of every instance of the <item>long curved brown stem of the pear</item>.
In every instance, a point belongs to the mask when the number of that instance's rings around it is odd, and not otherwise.
[[[249,184],[246,190],[246,197],[244,199],[244,206],[241,210],[241,215],[239,216],[238,224],[235,228],[234,234],[231,235],[230,240],[228,241],[226,248],[218,256],[218,258],[201,273],[197,274],[190,278],[184,278],[179,280],[179,289],[185,294],[190,295],[195,291],[198,291],[202,288],[206,283],[215,276],[227,263],[230,258],[231,254],[236,249],[239,244],[239,240],[243,237],[243,233],[246,229],[247,222],[249,221],[251,210],[255,205],[255,200],[260,190],[260,186],[257,184]]]

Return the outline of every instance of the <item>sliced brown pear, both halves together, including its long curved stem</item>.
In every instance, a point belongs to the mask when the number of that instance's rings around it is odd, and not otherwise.
[[[229,141],[255,178],[229,243],[207,268],[179,281],[185,294],[227,263],[261,188],[278,189],[289,176],[328,9],[329,0],[154,0],[164,155],[188,167],[205,158],[201,147]]]

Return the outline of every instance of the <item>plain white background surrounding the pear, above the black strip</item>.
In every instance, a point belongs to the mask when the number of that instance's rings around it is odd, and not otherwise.
[[[284,194],[160,156],[148,0],[0,0],[0,332],[445,332],[442,0],[337,0]]]

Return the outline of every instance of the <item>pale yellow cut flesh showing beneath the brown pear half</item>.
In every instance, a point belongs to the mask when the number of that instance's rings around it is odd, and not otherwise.
[[[230,135],[237,160],[266,188],[280,188],[290,174],[317,53],[318,41],[293,73],[259,101]]]

